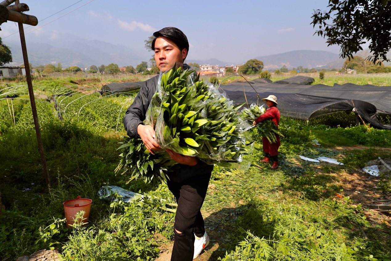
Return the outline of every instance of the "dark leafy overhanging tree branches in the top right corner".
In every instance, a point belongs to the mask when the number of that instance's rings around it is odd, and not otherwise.
[[[387,59],[391,49],[391,1],[329,0],[328,11],[316,10],[311,24],[319,25],[314,34],[327,38],[328,45],[341,47],[341,58],[353,58],[370,41],[369,60]]]

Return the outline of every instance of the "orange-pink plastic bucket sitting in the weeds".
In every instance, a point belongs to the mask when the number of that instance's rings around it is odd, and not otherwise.
[[[92,199],[80,197],[63,202],[66,226],[71,227],[70,225],[74,223],[75,215],[81,210],[86,212],[83,215],[83,219],[86,218],[83,222],[86,223],[88,221],[88,216],[90,216],[91,202]],[[79,222],[81,222],[80,219]]]

